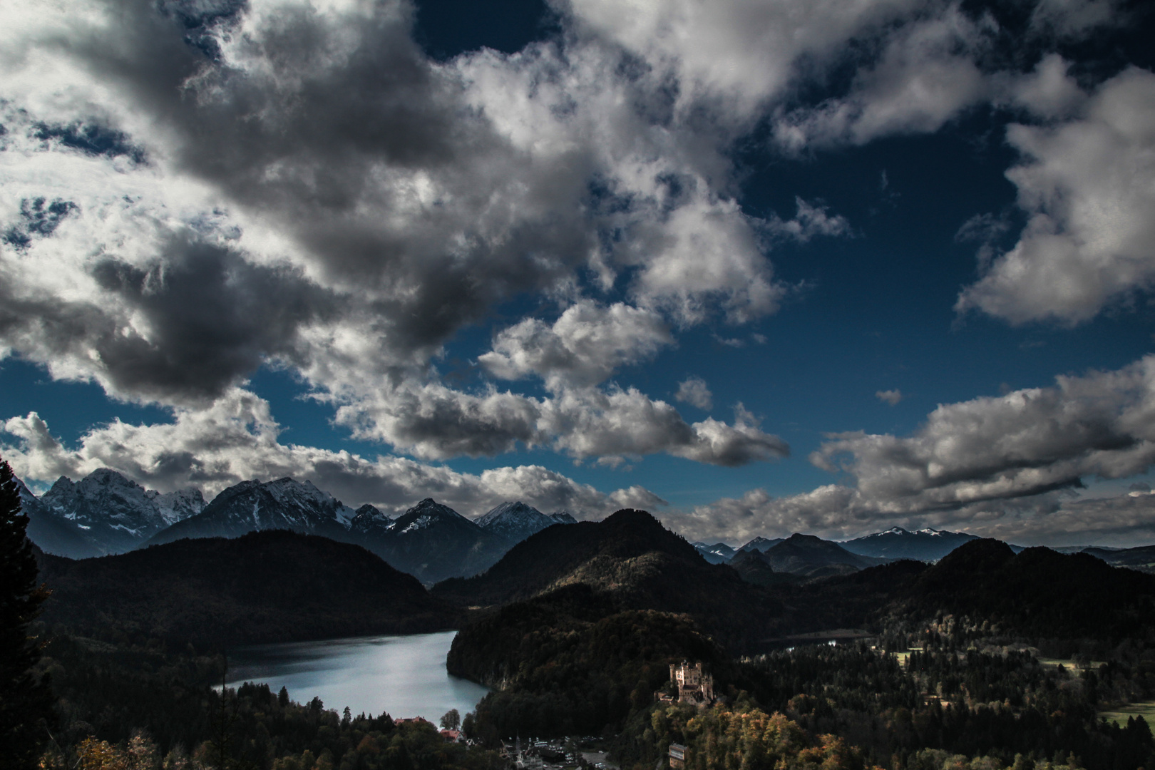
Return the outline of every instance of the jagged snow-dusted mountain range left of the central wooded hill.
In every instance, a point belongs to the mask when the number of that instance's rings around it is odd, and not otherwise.
[[[162,494],[109,469],[75,483],[61,477],[40,498],[21,483],[21,499],[29,538],[69,559],[289,530],[364,546],[426,584],[474,575],[526,537],[575,523],[566,511],[546,515],[523,502],[502,503],[475,522],[432,499],[390,518],[370,504],[353,510],[311,481],[291,478],[241,481],[206,504],[196,489]]]

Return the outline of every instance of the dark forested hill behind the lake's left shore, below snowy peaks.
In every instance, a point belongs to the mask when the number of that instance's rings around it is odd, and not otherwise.
[[[365,548],[288,531],[178,540],[72,561],[39,555],[42,619],[199,649],[454,628],[460,611]]]

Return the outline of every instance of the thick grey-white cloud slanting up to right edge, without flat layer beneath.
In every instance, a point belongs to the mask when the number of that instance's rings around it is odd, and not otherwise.
[[[902,513],[1126,478],[1155,462],[1155,357],[1051,388],[944,404],[910,436],[844,433],[811,461],[850,473],[860,503]]]

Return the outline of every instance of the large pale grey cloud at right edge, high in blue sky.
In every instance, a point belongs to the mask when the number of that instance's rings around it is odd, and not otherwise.
[[[1019,242],[959,296],[1011,323],[1075,324],[1155,279],[1155,75],[1130,68],[1074,120],[1012,125],[1007,172],[1028,215]]]

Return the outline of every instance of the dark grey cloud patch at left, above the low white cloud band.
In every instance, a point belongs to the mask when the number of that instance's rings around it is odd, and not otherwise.
[[[260,366],[292,359],[301,324],[337,300],[286,268],[248,264],[228,248],[172,238],[140,268],[103,257],[89,300],[15,296],[7,283],[0,334],[39,360],[81,358],[112,393],[207,401]]]

